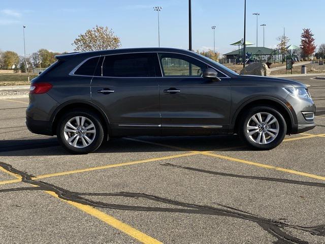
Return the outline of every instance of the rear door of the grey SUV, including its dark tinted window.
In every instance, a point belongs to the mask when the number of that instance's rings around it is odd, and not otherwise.
[[[100,58],[91,81],[91,99],[108,116],[113,136],[160,135],[156,66],[160,73],[153,53]]]

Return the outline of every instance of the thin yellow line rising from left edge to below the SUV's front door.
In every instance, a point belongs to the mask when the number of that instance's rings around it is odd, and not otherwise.
[[[109,168],[115,168],[115,167],[122,167],[122,166],[126,166],[126,165],[149,163],[149,162],[166,160],[166,159],[175,159],[175,158],[187,157],[187,156],[192,156],[192,155],[197,155],[197,154],[200,154],[200,152],[198,151],[198,152],[193,152],[193,153],[178,154],[178,155],[172,155],[172,156],[166,156],[166,157],[160,157],[160,158],[144,159],[144,160],[127,162],[127,163],[109,164],[109,165],[92,167],[92,168],[85,168],[85,169],[77,169],[77,170],[63,171],[63,172],[57,172],[57,173],[51,173],[51,174],[43,174],[43,175],[38,175],[38,176],[35,176],[35,177],[31,177],[31,178],[32,179],[49,178],[49,177],[53,177],[53,176],[69,175],[69,174],[82,173],[82,172],[87,172],[87,171],[94,171],[94,170],[101,170],[101,169],[109,169]],[[6,173],[10,173],[13,176],[19,177],[19,175],[14,175],[13,173],[11,173],[11,172],[3,169],[2,167],[0,167],[0,169],[2,169],[3,171],[5,171]],[[11,184],[11,183],[19,182],[19,181],[21,181],[21,180],[18,180],[18,179],[4,180],[4,181],[0,181],[0,185]]]

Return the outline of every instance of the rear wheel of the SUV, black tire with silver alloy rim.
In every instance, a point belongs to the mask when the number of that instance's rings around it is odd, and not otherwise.
[[[62,115],[56,135],[59,143],[69,153],[88,154],[100,147],[104,139],[104,130],[98,115],[85,110],[76,110]]]

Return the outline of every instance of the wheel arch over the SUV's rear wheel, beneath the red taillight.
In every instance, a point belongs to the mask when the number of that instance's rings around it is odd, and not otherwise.
[[[53,135],[56,134],[57,123],[58,123],[61,115],[68,111],[77,109],[77,108],[87,109],[89,111],[92,111],[92,112],[98,114],[102,120],[103,129],[104,129],[105,133],[107,133],[107,136],[109,138],[109,136],[111,135],[110,122],[109,122],[109,119],[108,119],[106,113],[99,106],[97,106],[94,103],[91,103],[89,101],[86,101],[86,100],[72,100],[72,101],[61,104],[54,110],[54,112],[52,113],[52,116],[51,116],[51,120],[50,120]]]

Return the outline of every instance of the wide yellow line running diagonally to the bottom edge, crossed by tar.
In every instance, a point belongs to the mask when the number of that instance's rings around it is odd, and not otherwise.
[[[11,175],[14,175],[17,180],[21,180],[21,176],[20,175],[16,175],[14,173],[11,173],[10,171],[4,169],[3,167],[0,166],[0,169],[6,173],[10,173]],[[20,178],[20,179],[19,179]],[[38,187],[36,185],[32,185],[30,184],[31,186],[35,186],[35,187]],[[77,202],[73,202],[73,201],[68,201],[68,200],[64,200],[64,199],[61,199],[58,197],[58,195],[54,192],[51,192],[51,191],[43,191],[53,197],[56,197],[58,199],[60,199],[61,201],[63,202],[67,202],[77,208],[79,208],[80,210],[86,212],[87,214],[93,216],[93,217],[96,217],[97,219],[105,222],[106,224],[114,227],[115,229],[118,229],[122,232],[124,232],[125,234],[129,235],[129,236],[132,236],[133,238],[145,243],[145,244],[162,244],[162,242],[152,238],[151,236],[149,235],[146,235],[145,233],[115,219],[114,217],[110,216],[110,215],[107,215],[105,214],[105,212],[102,212],[92,206],[88,206],[88,205],[84,205],[84,204],[81,204],[81,203],[77,203]]]

